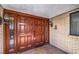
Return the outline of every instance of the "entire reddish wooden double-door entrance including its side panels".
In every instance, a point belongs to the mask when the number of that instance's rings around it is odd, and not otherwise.
[[[31,18],[22,15],[9,14],[13,23],[13,36],[10,34],[10,21],[5,23],[5,53],[16,53],[29,48],[48,43],[48,20]],[[13,47],[10,48],[10,36],[13,37]],[[12,40],[12,39],[11,39]]]

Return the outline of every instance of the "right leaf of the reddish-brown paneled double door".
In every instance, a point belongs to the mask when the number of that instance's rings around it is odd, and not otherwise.
[[[42,20],[39,19],[35,20],[34,31],[35,31],[36,46],[44,43],[44,39],[42,40],[42,37],[44,35],[43,30],[44,28],[42,28]]]

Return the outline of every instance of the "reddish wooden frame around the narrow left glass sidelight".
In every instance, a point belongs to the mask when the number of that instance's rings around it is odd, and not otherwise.
[[[4,20],[4,15],[5,13],[7,14],[11,14],[11,12],[7,12],[5,9],[4,9],[4,13],[3,13],[3,20]],[[11,16],[15,16],[15,14],[12,14]],[[16,17],[14,17],[14,53],[17,52],[17,45],[16,45]],[[9,49],[9,33],[6,33],[6,30],[9,32],[9,24],[7,22],[4,22],[3,23],[3,53],[4,54],[8,54],[8,49]],[[7,29],[6,29],[7,27]],[[7,39],[7,40],[6,40]]]

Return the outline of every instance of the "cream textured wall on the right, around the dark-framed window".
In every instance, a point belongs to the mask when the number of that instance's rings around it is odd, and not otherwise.
[[[68,53],[79,53],[79,36],[69,35],[69,13],[51,18],[53,27],[50,27],[50,44]]]

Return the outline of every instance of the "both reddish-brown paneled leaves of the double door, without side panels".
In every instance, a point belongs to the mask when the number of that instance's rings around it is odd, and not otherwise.
[[[45,43],[43,20],[19,17],[16,29],[19,50]]]

